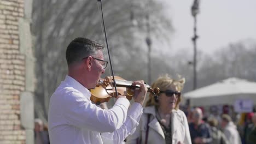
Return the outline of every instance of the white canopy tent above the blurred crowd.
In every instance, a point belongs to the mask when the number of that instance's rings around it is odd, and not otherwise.
[[[191,106],[233,105],[238,99],[249,99],[256,104],[256,82],[231,77],[212,85],[183,94]]]

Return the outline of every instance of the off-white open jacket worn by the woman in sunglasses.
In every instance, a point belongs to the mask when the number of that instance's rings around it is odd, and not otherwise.
[[[148,132],[148,144],[149,143],[165,143],[164,131],[162,131],[161,125],[156,119],[155,107],[148,106],[144,108],[143,115],[139,121],[139,125],[135,133],[127,137],[126,143],[136,143],[138,140],[141,143],[145,143],[146,131],[147,131],[147,120],[148,115],[150,116],[149,121],[149,132]],[[191,138],[189,133],[188,121],[184,112],[181,110],[173,110],[171,117],[172,124],[172,143],[177,144],[179,141],[184,144],[191,144]]]

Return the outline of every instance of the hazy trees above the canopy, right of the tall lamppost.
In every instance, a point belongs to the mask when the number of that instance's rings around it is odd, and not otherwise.
[[[199,87],[229,77],[256,81],[256,43],[242,40],[210,55],[203,55],[198,70]]]

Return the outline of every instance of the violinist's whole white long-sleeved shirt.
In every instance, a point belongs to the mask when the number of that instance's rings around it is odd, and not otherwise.
[[[128,110],[129,100],[119,98],[112,109],[102,110],[90,96],[88,89],[66,76],[50,98],[50,143],[121,143],[134,133],[141,104],[133,103]]]

